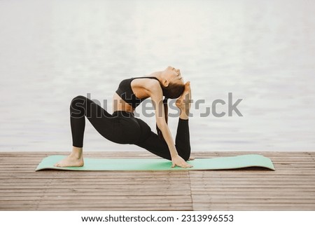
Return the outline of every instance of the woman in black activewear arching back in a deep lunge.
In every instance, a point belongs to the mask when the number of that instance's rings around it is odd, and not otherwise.
[[[165,100],[162,100],[163,95]],[[113,114],[87,99],[75,97],[70,106],[73,148],[69,156],[57,167],[83,166],[83,135],[85,116],[94,128],[106,139],[120,144],[136,144],[162,158],[172,160],[172,167],[191,168],[186,163],[190,158],[188,114],[190,109],[190,82],[183,82],[181,71],[167,67],[146,77],[121,81],[113,96]],[[155,107],[158,135],[139,118],[134,109],[146,98],[151,97]],[[167,98],[178,98],[180,109],[176,145],[167,125]]]

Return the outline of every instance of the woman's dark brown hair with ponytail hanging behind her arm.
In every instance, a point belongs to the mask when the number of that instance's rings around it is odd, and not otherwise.
[[[164,106],[164,112],[165,112],[165,121],[167,123],[168,121],[167,114],[169,111],[167,100],[169,98],[174,99],[174,98],[180,97],[181,94],[183,93],[185,86],[183,84],[178,84],[178,83],[169,83],[169,86],[167,87],[161,86],[161,88],[162,88],[163,96],[165,96],[165,99],[163,100],[163,106]],[[156,131],[158,132],[160,139],[164,140],[162,131],[158,128],[158,125],[156,125]]]

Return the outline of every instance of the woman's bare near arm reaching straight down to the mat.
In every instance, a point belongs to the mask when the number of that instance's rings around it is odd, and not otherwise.
[[[186,163],[186,161],[179,156],[175,144],[174,139],[172,137],[172,133],[169,130],[169,126],[167,125],[165,121],[165,111],[162,101],[162,89],[160,88],[160,85],[158,86],[151,86],[150,88],[150,95],[151,100],[153,102],[153,106],[155,107],[155,119],[156,124],[158,125],[158,128],[161,130],[162,135],[165,139],[165,142],[167,143],[167,146],[169,147],[169,153],[172,157],[172,167],[175,167],[175,165],[180,166],[181,168],[190,168],[192,165]]]

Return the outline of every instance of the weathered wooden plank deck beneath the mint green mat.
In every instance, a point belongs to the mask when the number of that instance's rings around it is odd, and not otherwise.
[[[67,153],[0,152],[0,210],[315,210],[315,152],[260,152],[276,171],[34,172],[52,154]],[[155,158],[145,151],[85,157]]]

